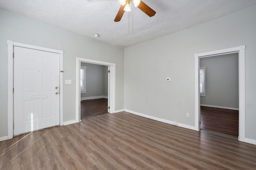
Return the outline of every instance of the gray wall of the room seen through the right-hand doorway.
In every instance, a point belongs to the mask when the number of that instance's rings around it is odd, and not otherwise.
[[[238,53],[204,57],[200,67],[206,66],[206,96],[203,105],[239,108]]]

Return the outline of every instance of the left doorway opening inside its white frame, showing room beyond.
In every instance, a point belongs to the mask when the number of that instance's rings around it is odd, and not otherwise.
[[[106,65],[81,62],[81,120],[108,113],[108,67]]]

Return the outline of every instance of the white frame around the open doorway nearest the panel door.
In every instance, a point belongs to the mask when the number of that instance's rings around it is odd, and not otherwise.
[[[109,113],[116,111],[116,64],[91,59],[76,57],[76,121],[80,120],[80,66],[81,62],[108,66],[110,73],[108,78],[108,103]]]

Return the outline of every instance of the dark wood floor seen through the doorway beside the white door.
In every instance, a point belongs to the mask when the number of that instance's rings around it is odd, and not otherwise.
[[[92,99],[81,101],[81,119],[108,113],[108,99]]]

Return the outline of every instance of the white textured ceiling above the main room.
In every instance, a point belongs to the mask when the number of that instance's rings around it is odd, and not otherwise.
[[[0,8],[120,47],[146,42],[256,4],[256,0],[143,0],[148,17],[131,3],[120,22],[118,0],[0,0]]]

